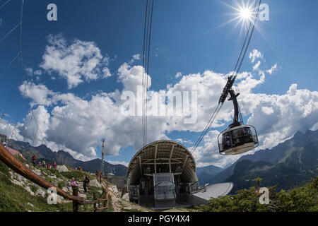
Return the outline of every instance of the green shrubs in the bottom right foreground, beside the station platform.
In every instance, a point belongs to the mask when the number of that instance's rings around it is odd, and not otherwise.
[[[260,186],[261,179],[257,179]],[[269,188],[269,205],[259,203],[261,194],[257,188],[237,191],[235,195],[211,198],[208,206],[197,209],[204,212],[317,212],[318,211],[318,177],[312,183],[288,191],[275,191]]]

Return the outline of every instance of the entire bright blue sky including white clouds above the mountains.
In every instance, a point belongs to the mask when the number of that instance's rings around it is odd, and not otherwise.
[[[6,1],[0,0],[0,6]],[[233,6],[241,4],[241,1],[234,0],[223,2]],[[51,3],[57,5],[57,21],[47,20],[47,5]],[[254,32],[241,69],[246,74],[242,73],[242,79],[236,84],[241,91],[239,102],[245,121],[257,127],[260,148],[271,148],[293,136],[295,131],[318,127],[318,15],[315,12],[318,3],[306,1],[304,4],[300,0],[262,3],[269,5],[269,20],[257,22],[261,32]],[[138,57],[132,59],[143,50],[145,4],[146,1],[136,0],[24,1],[23,70],[30,96],[33,96],[30,97],[33,109],[42,126],[41,131],[47,145],[53,150],[63,148],[78,159],[88,160],[100,156],[100,141],[106,136],[107,160],[128,163],[140,148],[139,119],[134,121],[121,115],[112,119],[113,114],[117,114],[112,111],[112,107],[116,109],[118,103],[113,100],[108,106],[105,96],[116,99],[115,90],[121,93],[135,84],[129,79],[134,69],[140,69],[141,66]],[[149,67],[150,90],[164,90],[168,93],[180,87],[189,86],[191,89],[202,85],[198,102],[204,107],[199,112],[197,124],[192,126],[184,126],[180,121],[177,121],[178,125],[166,126],[165,122],[175,119],[152,118],[148,122],[151,128],[150,141],[170,138],[183,142],[189,148],[194,145],[216,105],[214,99],[222,91],[225,75],[235,66],[244,41],[245,32],[240,34],[241,24],[235,27],[237,20],[223,25],[235,17],[233,13],[235,11],[232,8],[214,0],[155,1]],[[0,18],[1,40],[19,22],[20,1],[11,0],[0,8]],[[218,55],[224,30],[224,40]],[[52,42],[49,42],[50,38]],[[18,54],[18,41],[17,28],[0,43],[0,71]],[[61,41],[64,42],[64,49],[57,46]],[[71,69],[61,66],[62,60],[53,62],[44,57],[52,57],[50,54],[63,51],[71,57],[78,56],[76,51],[79,50],[71,49],[72,44],[78,48],[76,43],[91,48],[88,52],[97,54],[94,60],[98,64],[92,68],[93,75],[88,75],[90,71],[81,66],[76,75],[82,81],[70,88],[66,78],[72,73]],[[54,51],[49,52],[48,47],[53,47]],[[253,57],[249,54],[254,49],[254,53],[259,54],[252,62]],[[94,58],[90,54],[83,55],[80,60]],[[259,67],[253,70],[258,61]],[[111,75],[103,76],[105,74],[102,70],[105,68]],[[126,72],[120,72],[120,68]],[[266,72],[270,69],[273,69],[271,73]],[[181,76],[176,76],[177,73]],[[198,73],[199,77],[194,76]],[[15,138],[32,143],[33,138],[38,136],[35,143],[40,145],[42,139],[39,133],[35,133],[32,123],[29,125],[30,134],[25,134],[30,109],[23,94],[24,86],[21,86],[20,58],[13,61],[0,79],[0,108],[2,111],[6,109],[6,119],[0,121],[0,133],[11,133],[21,112]],[[204,86],[206,81],[209,84]],[[66,94],[69,95],[67,100]],[[88,103],[86,108],[81,106],[83,101]],[[219,118],[223,126],[212,128],[201,143],[201,148],[194,153],[199,166],[214,164],[224,167],[237,159],[237,156],[220,157],[217,153],[216,134],[226,128],[232,115],[230,103],[226,103],[224,108]],[[107,112],[107,109],[110,111]],[[91,131],[87,131],[87,128]],[[125,141],[119,141],[120,138]],[[80,145],[81,142],[84,145]]]

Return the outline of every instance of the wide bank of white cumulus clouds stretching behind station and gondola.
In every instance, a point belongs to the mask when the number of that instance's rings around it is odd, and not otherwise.
[[[66,46],[64,40],[58,39],[54,42],[57,46]],[[66,49],[68,48],[66,47]],[[253,56],[254,60],[263,58],[256,49],[251,54],[252,60]],[[269,70],[273,71],[273,68]],[[124,102],[120,97],[126,90],[137,93],[138,86],[142,85],[143,73],[142,66],[131,66],[124,63],[117,70],[118,82],[122,83],[122,90],[114,90],[112,93],[96,93],[88,100],[73,93],[55,93],[42,84],[26,83],[28,95],[33,102],[35,118],[47,145],[53,150],[66,150],[81,160],[97,157],[96,147],[105,137],[108,141],[107,155],[118,155],[120,148],[129,146],[139,150],[142,146],[141,116],[123,114]],[[204,71],[204,73],[182,75],[177,83],[167,85],[167,88],[163,90],[151,90],[151,77],[147,75],[149,98],[154,95],[165,97],[178,92],[197,91],[198,104],[196,108],[198,120],[194,124],[184,123],[184,119],[188,117],[184,112],[179,116],[148,116],[148,142],[168,139],[169,133],[173,131],[200,133],[216,108],[229,74]],[[235,83],[240,90],[238,101],[241,112],[244,116],[249,116],[247,123],[255,126],[259,134],[259,148],[271,148],[290,138],[298,130],[317,128],[317,92],[299,90],[296,84],[292,84],[283,95],[255,93],[254,88],[264,83],[265,80],[265,73],[255,74],[243,71],[237,75]],[[24,88],[24,85],[19,87],[22,95],[25,92]],[[189,101],[192,101],[191,98]],[[161,100],[158,102],[158,106],[167,107],[167,103],[165,100]],[[148,107],[150,111],[153,106]],[[185,112],[187,113],[187,110]],[[240,155],[223,157],[218,153],[216,139],[220,130],[217,129],[230,124],[232,114],[232,102],[226,101],[217,119],[213,122],[213,130],[208,132],[201,146],[193,153],[197,166],[213,164],[224,167],[240,157]],[[40,132],[36,132],[35,120],[32,117],[32,114],[29,113],[23,124],[17,126],[16,138],[24,138],[28,141],[33,141],[35,138],[35,143],[40,144],[42,137]],[[10,125],[1,121],[0,132],[10,129]],[[189,146],[194,144],[196,137],[192,141],[182,138],[177,141]],[[192,147],[189,149],[191,150]]]

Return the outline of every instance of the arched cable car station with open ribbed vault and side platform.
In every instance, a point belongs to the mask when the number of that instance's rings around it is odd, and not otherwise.
[[[232,189],[232,183],[200,188],[194,157],[175,141],[141,148],[129,163],[126,182],[130,201],[155,209],[207,204]]]

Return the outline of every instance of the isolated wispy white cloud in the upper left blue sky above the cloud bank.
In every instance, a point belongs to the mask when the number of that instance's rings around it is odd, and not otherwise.
[[[102,57],[95,42],[76,39],[68,44],[62,35],[49,35],[47,42],[49,44],[45,47],[40,67],[48,73],[57,72],[66,79],[69,88],[84,81],[110,76],[110,71],[105,67],[109,58]]]

